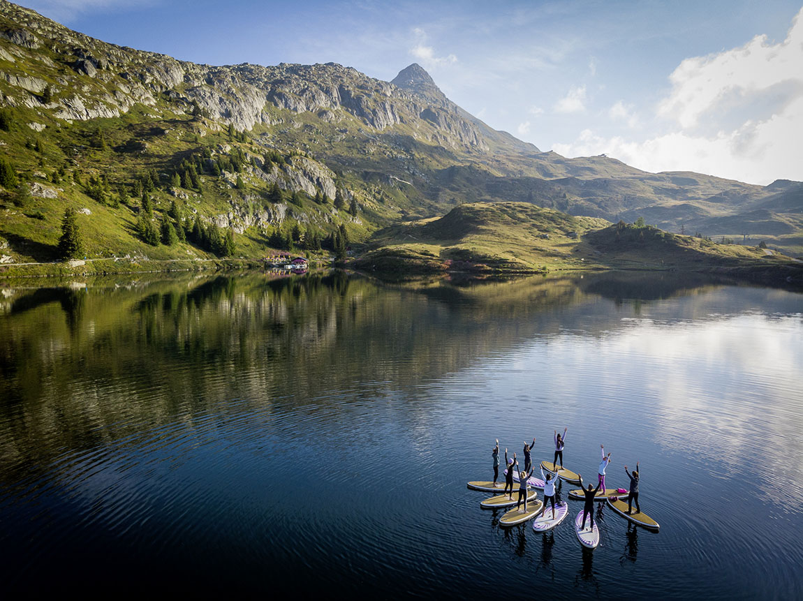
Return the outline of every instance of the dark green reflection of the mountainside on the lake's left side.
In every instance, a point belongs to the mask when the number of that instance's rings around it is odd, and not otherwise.
[[[355,382],[381,396],[539,335],[600,335],[622,327],[589,293],[604,279],[379,286],[335,272],[35,290],[0,316],[0,456],[47,464],[99,432],[124,437],[177,416],[191,426],[231,399],[247,400],[243,411],[320,406]],[[703,295],[685,298],[702,312]]]

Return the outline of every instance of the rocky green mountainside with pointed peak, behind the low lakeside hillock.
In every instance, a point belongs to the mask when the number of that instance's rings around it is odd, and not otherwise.
[[[277,231],[300,229],[296,246],[336,231],[365,240],[473,201],[642,216],[803,250],[799,182],[762,187],[540,152],[463,111],[417,64],[392,82],[335,63],[200,65],[104,43],[2,1],[0,105],[0,156],[18,176],[0,194],[0,252],[14,261],[51,258],[64,205],[90,213],[93,253],[206,256],[190,240],[145,242],[143,203],[154,223],[177,204],[184,225],[230,229],[251,255]]]

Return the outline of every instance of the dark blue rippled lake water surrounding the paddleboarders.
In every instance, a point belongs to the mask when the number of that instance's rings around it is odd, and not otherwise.
[[[6,594],[803,598],[803,296],[673,274],[0,284]],[[491,447],[629,526],[504,530]],[[567,500],[570,485],[560,495]],[[539,497],[541,495],[539,494]],[[507,592],[507,589],[510,589]],[[502,593],[502,591],[504,592]]]

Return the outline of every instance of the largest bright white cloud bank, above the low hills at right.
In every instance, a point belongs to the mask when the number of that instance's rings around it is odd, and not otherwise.
[[[803,9],[781,43],[760,35],[743,47],[683,60],[656,112],[671,131],[635,141],[584,130],[553,149],[566,156],[605,152],[647,171],[689,170],[757,184],[803,180],[801,65]],[[630,120],[635,113],[619,101],[608,116]]]

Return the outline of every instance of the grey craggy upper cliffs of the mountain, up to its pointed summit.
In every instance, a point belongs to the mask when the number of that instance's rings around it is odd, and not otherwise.
[[[120,116],[134,104],[153,105],[165,94],[184,103],[185,112],[197,107],[241,131],[274,123],[275,108],[312,112],[328,123],[345,112],[377,132],[406,124],[414,128],[415,137],[462,152],[512,150],[524,144],[499,136],[462,111],[415,63],[391,83],[336,63],[210,67],[100,42],[0,0],[0,58],[30,58],[31,51],[40,48],[48,55],[37,59],[50,63],[53,72],[47,75],[63,87],[53,105],[55,116],[63,120]],[[70,68],[66,75],[59,63]],[[47,85],[45,79],[22,71],[2,72],[0,78],[35,95]],[[6,95],[6,104],[39,106],[38,98],[16,96]]]

